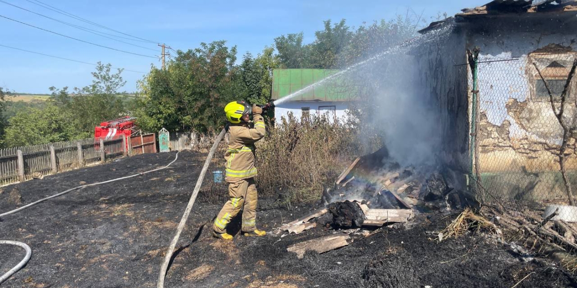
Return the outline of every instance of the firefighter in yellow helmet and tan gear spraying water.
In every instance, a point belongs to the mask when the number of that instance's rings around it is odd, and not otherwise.
[[[226,177],[230,200],[224,203],[213,225],[213,236],[223,240],[232,240],[233,236],[226,233],[226,226],[239,211],[242,211],[242,234],[244,236],[265,236],[263,230],[256,228],[257,192],[254,176],[257,175],[254,166],[254,142],[266,134],[263,109],[234,101],[224,107],[229,124],[230,139],[228,150],[224,154],[226,160]],[[249,117],[253,115],[253,122]]]

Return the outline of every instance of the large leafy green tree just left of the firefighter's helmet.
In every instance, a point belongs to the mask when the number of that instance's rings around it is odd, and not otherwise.
[[[147,131],[219,130],[226,118],[223,107],[236,100],[241,85],[237,48],[214,41],[168,62],[166,70],[152,67],[140,81],[136,116]]]

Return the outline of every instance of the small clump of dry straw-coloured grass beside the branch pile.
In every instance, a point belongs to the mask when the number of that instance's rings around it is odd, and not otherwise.
[[[443,231],[439,232],[439,236],[433,238],[432,240],[435,241],[443,241],[447,238],[452,237],[460,237],[463,236],[465,233],[469,232],[470,230],[485,230],[492,233],[497,232],[497,228],[493,223],[489,220],[485,219],[482,216],[479,216],[473,213],[473,210],[470,208],[466,208],[463,210],[461,214],[455,220],[453,220],[447,228],[443,229]]]

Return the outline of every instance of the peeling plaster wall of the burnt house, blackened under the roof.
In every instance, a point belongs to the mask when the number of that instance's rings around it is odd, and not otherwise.
[[[536,97],[532,97],[536,70],[531,63],[536,58],[531,53],[541,49],[539,52],[546,52],[551,57],[565,55],[560,59],[564,59],[563,64],[570,67],[574,56],[567,54],[575,51],[577,40],[574,33],[577,26],[570,23],[561,23],[561,20],[550,17],[469,23],[466,46],[471,50],[474,47],[481,49],[479,62],[519,59],[478,65],[480,172],[559,169],[554,153],[559,149],[562,130],[549,101],[537,101]],[[550,49],[543,50],[544,47]],[[541,63],[538,65],[541,66]],[[468,79],[472,87],[471,77]],[[565,115],[573,118],[576,114],[575,104],[567,107]],[[567,151],[571,156],[567,164],[577,169],[574,144],[575,139],[571,139]]]

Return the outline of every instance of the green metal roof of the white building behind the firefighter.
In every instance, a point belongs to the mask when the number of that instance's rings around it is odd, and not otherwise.
[[[272,72],[272,99],[276,100],[312,85],[339,70],[328,69],[275,69]],[[344,85],[344,79],[335,78],[307,90],[295,101],[350,101],[355,90]]]

